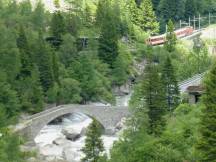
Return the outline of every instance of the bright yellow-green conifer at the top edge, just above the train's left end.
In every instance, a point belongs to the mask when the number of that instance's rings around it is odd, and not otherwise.
[[[140,5],[141,12],[141,24],[140,27],[151,34],[156,34],[159,31],[159,23],[156,20],[155,13],[153,11],[151,0],[143,0]]]

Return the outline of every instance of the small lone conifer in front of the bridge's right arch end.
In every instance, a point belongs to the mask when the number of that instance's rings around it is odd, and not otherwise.
[[[83,162],[98,162],[102,152],[104,151],[103,141],[101,139],[101,127],[96,120],[89,125],[85,146],[82,149],[85,157],[82,159]]]

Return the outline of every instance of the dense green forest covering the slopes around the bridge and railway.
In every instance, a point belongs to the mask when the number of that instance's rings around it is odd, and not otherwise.
[[[174,29],[179,20],[216,13],[215,0],[65,1],[67,10],[54,0],[57,10],[50,13],[41,1],[33,7],[30,0],[0,0],[0,161],[25,159],[20,139],[7,129],[20,113],[37,113],[53,103],[114,104],[113,88],[130,79],[137,79],[133,116],[111,162],[214,159],[215,130],[209,127],[215,126],[215,69],[206,81],[204,106],[180,104],[178,81],[208,70],[211,58],[205,42],[198,39],[187,48]],[[165,46],[146,45],[165,25]],[[136,78],[134,67],[143,60],[144,73]],[[200,114],[208,118],[201,117],[198,134]],[[84,161],[100,159],[97,127],[93,122],[87,133]]]

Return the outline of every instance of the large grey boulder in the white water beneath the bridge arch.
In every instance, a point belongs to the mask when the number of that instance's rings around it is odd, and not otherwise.
[[[65,137],[68,140],[71,140],[71,141],[75,141],[78,138],[80,138],[80,136],[81,136],[81,131],[77,130],[77,129],[74,129],[71,126],[64,127],[62,129],[62,133],[65,135]]]

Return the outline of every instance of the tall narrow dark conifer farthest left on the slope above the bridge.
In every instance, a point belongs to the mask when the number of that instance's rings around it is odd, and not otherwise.
[[[23,27],[20,28],[17,46],[21,53],[21,71],[18,75],[16,89],[21,108],[28,112],[38,112],[43,108],[43,92],[37,66],[33,63],[33,56]]]

